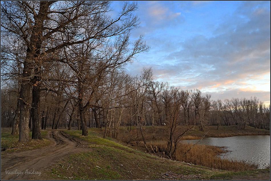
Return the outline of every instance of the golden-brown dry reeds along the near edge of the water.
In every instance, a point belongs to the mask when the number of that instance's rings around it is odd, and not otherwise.
[[[143,142],[139,142],[138,146],[143,147]],[[177,161],[192,163],[195,165],[206,166],[213,169],[228,170],[232,172],[254,170],[258,168],[257,164],[248,162],[247,160],[228,160],[226,158],[220,158],[219,155],[226,152],[223,147],[215,147],[209,145],[192,146],[193,144],[191,143],[181,143],[177,145],[173,159]],[[147,142],[147,147],[152,147],[154,151],[159,151],[160,153],[166,152],[167,141],[149,141]]]

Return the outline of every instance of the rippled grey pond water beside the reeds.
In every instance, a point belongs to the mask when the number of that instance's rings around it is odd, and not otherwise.
[[[199,140],[186,140],[187,143],[197,143]],[[259,164],[259,168],[270,165],[270,136],[249,135],[226,138],[204,138],[198,144],[226,147],[230,152],[221,154],[221,158],[247,160]]]

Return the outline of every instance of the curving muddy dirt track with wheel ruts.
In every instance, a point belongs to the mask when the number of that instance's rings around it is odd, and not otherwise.
[[[74,152],[90,151],[83,142],[63,131],[52,130],[46,136],[52,144],[41,149],[1,153],[1,180],[34,180],[46,167]],[[86,145],[87,143],[85,143]]]

